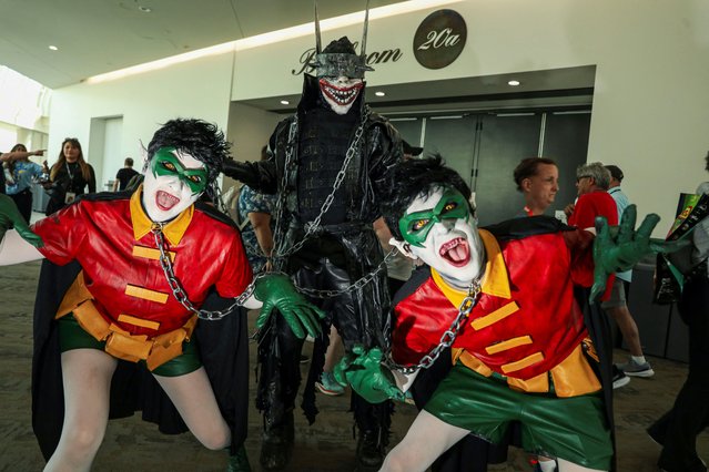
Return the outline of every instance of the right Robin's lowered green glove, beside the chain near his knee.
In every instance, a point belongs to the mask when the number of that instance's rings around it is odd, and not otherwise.
[[[347,383],[369,403],[382,403],[385,400],[404,401],[405,394],[396,387],[394,374],[382,365],[382,349],[372,348],[365,351],[363,346],[355,346],[335,366],[335,380],[343,386]]]

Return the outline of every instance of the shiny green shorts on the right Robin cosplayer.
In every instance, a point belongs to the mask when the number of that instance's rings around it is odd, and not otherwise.
[[[526,451],[610,470],[612,443],[598,394],[558,398],[524,393],[457,363],[425,410],[493,443],[499,443],[510,423],[518,421]]]

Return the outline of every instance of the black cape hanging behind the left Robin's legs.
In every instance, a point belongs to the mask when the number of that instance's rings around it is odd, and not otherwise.
[[[58,266],[44,260],[34,304],[32,356],[32,429],[44,459],[61,435],[64,396],[54,315],[64,293],[81,270],[78,263]],[[211,294],[203,308],[224,309],[233,302]],[[246,438],[249,410],[249,337],[246,310],[237,308],[219,321],[200,320],[193,337],[222,415],[232,430],[231,453]],[[119,360],[111,382],[109,418],[125,418],[142,411],[145,421],[166,434],[188,431],[168,396],[143,365]]]

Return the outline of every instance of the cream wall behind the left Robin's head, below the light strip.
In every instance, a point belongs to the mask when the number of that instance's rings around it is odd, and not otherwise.
[[[232,54],[222,54],[123,80],[55,90],[48,153],[50,165],[57,161],[61,142],[67,136],[78,137],[84,153],[92,148],[92,119],[122,116],[119,155],[132,156],[136,170],[142,167],[141,142],[148,146],[153,133],[170,119],[199,117],[226,130],[232,64]],[[87,157],[92,165],[100,166],[101,156]],[[112,179],[114,172],[111,174],[97,175],[97,182]]]

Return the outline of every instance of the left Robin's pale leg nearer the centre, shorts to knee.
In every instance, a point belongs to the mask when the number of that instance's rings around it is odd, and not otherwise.
[[[224,449],[232,433],[222,417],[204,368],[179,377],[154,376],[192,434],[205,448]]]

